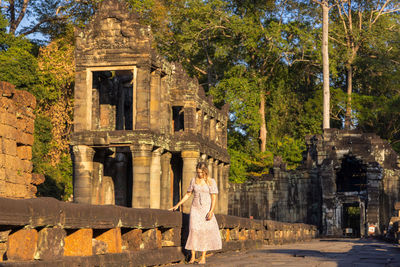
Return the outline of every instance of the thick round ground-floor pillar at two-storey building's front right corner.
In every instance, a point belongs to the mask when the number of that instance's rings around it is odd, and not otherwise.
[[[150,164],[152,145],[133,145],[132,208],[150,208]]]

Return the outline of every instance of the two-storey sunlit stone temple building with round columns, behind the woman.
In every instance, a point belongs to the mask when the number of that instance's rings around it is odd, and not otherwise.
[[[167,209],[206,161],[227,213],[228,107],[157,55],[150,27],[117,0],[75,37],[74,201]]]

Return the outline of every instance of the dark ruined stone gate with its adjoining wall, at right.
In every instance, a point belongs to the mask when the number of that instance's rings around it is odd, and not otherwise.
[[[375,134],[329,129],[307,140],[303,166],[232,185],[229,214],[318,225],[324,235],[364,236],[389,224],[399,201],[398,155]]]

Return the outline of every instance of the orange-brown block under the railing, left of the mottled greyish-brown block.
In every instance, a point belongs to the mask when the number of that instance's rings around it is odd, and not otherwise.
[[[38,232],[35,229],[22,229],[10,233],[7,242],[7,259],[30,261],[34,259]]]

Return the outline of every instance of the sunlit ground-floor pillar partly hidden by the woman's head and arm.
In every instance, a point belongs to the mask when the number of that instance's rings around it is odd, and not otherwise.
[[[196,165],[199,160],[200,153],[198,151],[185,150],[182,151],[183,170],[182,170],[182,196],[189,187],[190,180],[196,177]],[[190,201],[183,204],[183,212],[189,213]]]

